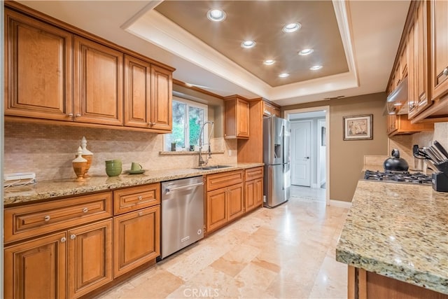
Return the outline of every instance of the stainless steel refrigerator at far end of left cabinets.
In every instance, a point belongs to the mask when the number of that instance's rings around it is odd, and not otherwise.
[[[264,206],[276,207],[290,197],[290,123],[270,116],[263,119],[265,162]]]

